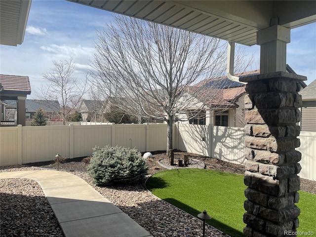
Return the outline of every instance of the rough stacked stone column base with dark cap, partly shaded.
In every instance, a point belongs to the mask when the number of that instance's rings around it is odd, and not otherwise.
[[[245,96],[245,190],[248,237],[283,237],[299,226],[301,153],[297,136],[302,98],[299,80],[285,72],[243,78]],[[285,234],[284,234],[285,233]],[[293,235],[292,235],[293,236]]]

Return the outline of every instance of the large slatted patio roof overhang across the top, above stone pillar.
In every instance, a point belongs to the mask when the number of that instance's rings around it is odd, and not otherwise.
[[[316,22],[316,1],[70,1],[249,46],[271,25],[293,29]]]

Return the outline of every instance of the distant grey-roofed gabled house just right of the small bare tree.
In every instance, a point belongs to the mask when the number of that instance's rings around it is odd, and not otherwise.
[[[102,100],[81,100],[79,112],[83,121],[104,121],[103,114],[105,101]]]

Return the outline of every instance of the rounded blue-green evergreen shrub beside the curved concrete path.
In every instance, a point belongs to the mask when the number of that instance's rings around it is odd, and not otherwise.
[[[87,167],[98,186],[136,184],[145,179],[147,166],[136,149],[106,146],[95,148]]]

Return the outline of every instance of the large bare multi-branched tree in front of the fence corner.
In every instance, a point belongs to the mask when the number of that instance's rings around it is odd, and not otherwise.
[[[175,115],[195,98],[187,96],[187,89],[201,79],[224,75],[227,45],[125,16],[115,16],[115,23],[97,32],[97,38],[91,65],[94,90],[110,96],[121,111],[139,120],[164,120],[168,152]]]

